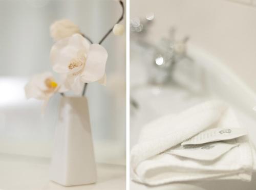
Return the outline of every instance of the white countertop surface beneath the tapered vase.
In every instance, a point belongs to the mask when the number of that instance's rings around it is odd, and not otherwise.
[[[0,154],[1,190],[122,190],[125,166],[97,164],[98,182],[81,186],[61,186],[49,180],[49,158]]]

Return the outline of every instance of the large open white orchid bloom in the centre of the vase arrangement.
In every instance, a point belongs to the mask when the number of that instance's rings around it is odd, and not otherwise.
[[[53,70],[66,77],[65,86],[78,94],[84,83],[105,85],[108,53],[102,45],[90,44],[80,34],[57,41],[50,53]]]

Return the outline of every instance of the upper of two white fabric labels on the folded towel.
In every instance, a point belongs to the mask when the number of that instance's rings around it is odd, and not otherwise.
[[[199,145],[221,140],[238,138],[246,135],[244,128],[215,128],[203,131],[192,138],[184,141],[181,145]]]

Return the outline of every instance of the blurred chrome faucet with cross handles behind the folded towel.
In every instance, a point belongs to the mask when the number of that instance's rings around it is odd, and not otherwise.
[[[147,14],[144,18],[130,20],[131,40],[147,49],[152,56],[152,62],[148,66],[148,82],[151,84],[168,84],[173,81],[173,74],[177,63],[183,59],[193,62],[186,54],[188,37],[176,40],[176,28],[171,27],[167,38],[162,38],[158,44],[152,44],[146,39],[146,35],[154,23],[154,14]],[[150,52],[150,53],[149,53]]]

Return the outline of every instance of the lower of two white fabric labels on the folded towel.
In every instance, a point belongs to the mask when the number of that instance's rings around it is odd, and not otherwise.
[[[233,144],[217,142],[203,145],[185,145],[175,149],[168,149],[165,153],[196,160],[210,161],[219,158],[230,149],[239,146],[238,143],[235,143],[235,140],[229,142],[233,142]]]

